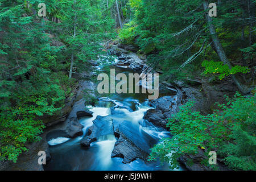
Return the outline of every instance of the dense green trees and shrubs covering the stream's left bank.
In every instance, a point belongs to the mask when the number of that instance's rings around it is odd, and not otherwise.
[[[41,2],[48,21],[37,15]],[[76,72],[104,55],[99,42],[114,35],[106,34],[114,22],[99,3],[0,0],[0,160],[16,162],[27,142],[40,139],[42,118],[64,106],[76,84],[68,78],[71,54]]]

